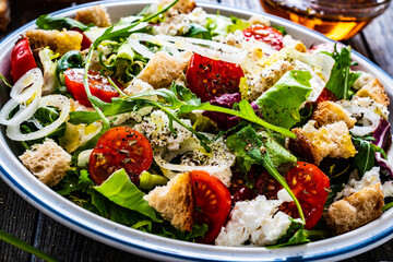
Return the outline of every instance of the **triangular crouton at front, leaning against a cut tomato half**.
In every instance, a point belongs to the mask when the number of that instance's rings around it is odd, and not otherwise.
[[[179,230],[192,230],[194,200],[189,172],[179,174],[166,186],[156,187],[144,199]]]

